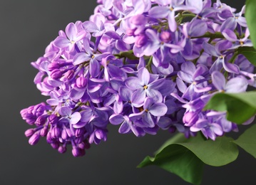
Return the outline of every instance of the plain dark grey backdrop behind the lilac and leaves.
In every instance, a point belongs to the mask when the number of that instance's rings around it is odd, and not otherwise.
[[[223,2],[239,10],[244,4]],[[0,1],[0,184],[188,184],[156,166],[135,168],[171,136],[168,132],[136,138],[112,126],[107,142],[79,158],[71,148],[59,154],[45,138],[31,146],[24,136],[29,125],[19,111],[46,100],[33,83],[37,70],[30,63],[68,23],[88,20],[95,6],[96,1],[81,0]],[[255,184],[255,169],[256,160],[241,150],[236,162],[206,166],[203,184]]]

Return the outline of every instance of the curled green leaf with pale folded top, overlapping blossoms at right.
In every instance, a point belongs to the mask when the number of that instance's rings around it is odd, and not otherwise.
[[[242,124],[256,113],[256,92],[217,93],[204,110],[227,111],[227,120]]]

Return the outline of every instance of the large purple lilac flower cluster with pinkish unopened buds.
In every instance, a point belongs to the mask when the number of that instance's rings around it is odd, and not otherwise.
[[[220,0],[98,0],[89,21],[69,23],[32,65],[42,95],[21,110],[58,152],[83,156],[106,141],[108,124],[137,137],[158,129],[203,132],[215,139],[237,130],[225,112],[203,110],[215,93],[256,86],[253,66],[237,48],[252,46],[243,14]],[[252,120],[248,120],[250,123]]]

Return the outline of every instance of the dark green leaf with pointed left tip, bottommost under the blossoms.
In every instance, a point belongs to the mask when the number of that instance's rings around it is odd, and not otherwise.
[[[178,142],[188,142],[188,139],[183,134],[176,134],[155,152],[155,157],[145,157],[137,167],[156,165],[185,181],[200,184],[203,177],[203,162],[189,149],[177,144]]]

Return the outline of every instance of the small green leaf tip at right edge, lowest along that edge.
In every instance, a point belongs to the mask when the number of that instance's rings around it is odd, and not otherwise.
[[[249,129],[247,129],[234,142],[239,147],[245,149],[246,152],[256,158],[256,125],[253,125]]]

